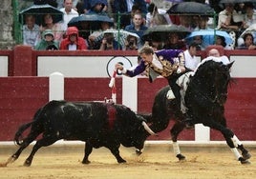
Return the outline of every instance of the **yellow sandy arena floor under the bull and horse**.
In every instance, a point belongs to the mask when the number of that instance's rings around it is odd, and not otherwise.
[[[5,162],[17,148],[0,147],[0,162]],[[252,155],[250,165],[241,165],[234,159],[227,147],[182,147],[186,161],[179,162],[170,145],[146,145],[140,156],[135,149],[120,148],[126,164],[117,164],[108,149],[94,149],[90,156],[91,164],[82,165],[83,146],[52,146],[39,149],[31,167],[24,167],[31,147],[25,149],[21,156],[8,167],[0,169],[0,178],[8,179],[161,179],[161,178],[195,178],[195,179],[251,179],[256,176],[256,148],[248,147]]]

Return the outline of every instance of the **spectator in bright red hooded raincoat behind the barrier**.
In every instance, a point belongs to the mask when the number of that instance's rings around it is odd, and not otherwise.
[[[79,37],[76,27],[67,29],[67,37],[60,42],[59,50],[87,50],[85,40]]]

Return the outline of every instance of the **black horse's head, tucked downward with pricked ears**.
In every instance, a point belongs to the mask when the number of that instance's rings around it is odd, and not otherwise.
[[[196,71],[198,79],[203,80],[207,98],[223,106],[227,99],[227,88],[230,82],[230,68],[234,62],[224,65],[222,62],[208,60]]]

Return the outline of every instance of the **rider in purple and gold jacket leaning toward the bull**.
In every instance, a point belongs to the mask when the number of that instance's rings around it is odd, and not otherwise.
[[[149,47],[144,46],[139,50],[139,57],[141,61],[134,70],[127,70],[121,64],[116,65],[117,70],[121,70],[122,74],[134,77],[146,71],[149,81],[152,83],[158,75],[168,80],[170,90],[167,93],[168,99],[181,101],[180,87],[177,85],[177,79],[187,70],[184,67],[185,58],[183,50],[158,50],[155,51]],[[184,118],[182,122],[187,129],[194,128],[192,119],[187,113],[183,113]]]

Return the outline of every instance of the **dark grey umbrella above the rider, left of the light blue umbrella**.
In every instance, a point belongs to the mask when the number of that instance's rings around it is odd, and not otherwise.
[[[148,28],[142,35],[143,41],[156,40],[165,41],[168,38],[170,32],[177,32],[180,38],[184,38],[190,33],[189,30],[182,26],[177,25],[160,25],[154,28]]]

